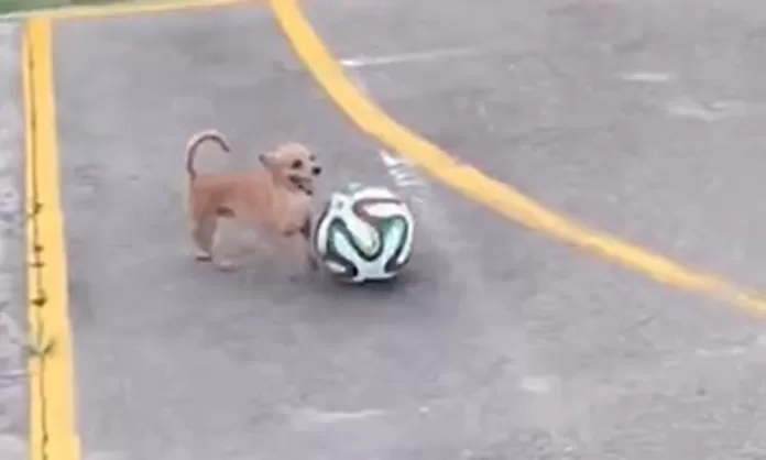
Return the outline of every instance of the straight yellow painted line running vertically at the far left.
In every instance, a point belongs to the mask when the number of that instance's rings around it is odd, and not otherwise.
[[[31,19],[22,43],[30,448],[32,460],[78,460],[51,22]]]

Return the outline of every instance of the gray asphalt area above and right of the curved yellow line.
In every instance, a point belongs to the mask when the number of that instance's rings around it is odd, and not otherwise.
[[[411,3],[309,4],[340,58],[436,52],[354,70],[404,124],[554,209],[766,287],[766,3]]]

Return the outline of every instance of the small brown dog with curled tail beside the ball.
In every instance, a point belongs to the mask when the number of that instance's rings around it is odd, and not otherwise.
[[[309,244],[314,182],[321,173],[316,156],[302,144],[288,143],[259,155],[263,171],[198,175],[195,156],[207,141],[230,151],[226,138],[216,130],[197,133],[186,147],[188,205],[197,260],[212,261],[223,270],[233,269],[230,261],[216,254],[218,222],[242,219],[261,234],[298,249],[308,266],[316,270]]]

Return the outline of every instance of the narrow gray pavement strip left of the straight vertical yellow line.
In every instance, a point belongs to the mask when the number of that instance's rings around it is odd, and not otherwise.
[[[20,28],[0,24],[0,458],[26,456]]]

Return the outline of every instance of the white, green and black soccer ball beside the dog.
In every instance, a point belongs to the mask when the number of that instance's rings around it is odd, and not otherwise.
[[[349,283],[395,277],[413,251],[415,222],[407,205],[385,187],[351,184],[325,205],[314,229],[322,264]]]

